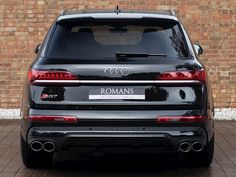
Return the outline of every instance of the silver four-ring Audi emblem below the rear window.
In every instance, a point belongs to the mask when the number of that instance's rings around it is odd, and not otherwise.
[[[129,69],[122,67],[108,67],[104,69],[104,73],[109,77],[128,76]]]

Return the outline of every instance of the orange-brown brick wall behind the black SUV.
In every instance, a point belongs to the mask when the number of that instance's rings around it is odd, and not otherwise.
[[[236,0],[0,0],[0,108],[19,107],[33,49],[62,9],[177,11],[193,42],[205,49],[216,107],[236,107]]]

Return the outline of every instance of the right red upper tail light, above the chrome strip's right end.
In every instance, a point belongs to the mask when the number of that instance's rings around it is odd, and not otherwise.
[[[198,80],[206,81],[206,73],[204,70],[197,71],[171,71],[160,74],[158,80]]]

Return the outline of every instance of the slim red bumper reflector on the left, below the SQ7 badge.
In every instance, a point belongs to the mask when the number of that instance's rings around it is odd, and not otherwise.
[[[26,120],[36,122],[68,122],[74,123],[78,121],[75,116],[26,116]]]

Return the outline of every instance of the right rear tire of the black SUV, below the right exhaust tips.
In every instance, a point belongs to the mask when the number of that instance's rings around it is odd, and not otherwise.
[[[214,156],[214,135],[201,152],[184,154],[184,162],[193,166],[209,167]]]

